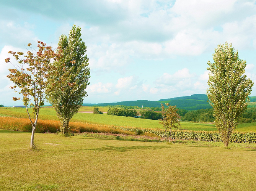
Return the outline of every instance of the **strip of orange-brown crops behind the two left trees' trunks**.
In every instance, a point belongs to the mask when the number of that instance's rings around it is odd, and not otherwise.
[[[70,122],[70,132],[83,133],[115,133],[134,135],[134,132],[124,131],[112,125],[98,125],[83,122]],[[14,130],[22,132],[32,132],[32,125],[29,119],[14,118],[14,117],[0,117],[0,129]],[[60,129],[60,122],[57,120],[38,120],[36,126],[36,133],[55,133]]]

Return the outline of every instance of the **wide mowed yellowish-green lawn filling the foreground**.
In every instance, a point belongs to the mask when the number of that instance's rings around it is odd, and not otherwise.
[[[224,149],[36,133],[39,150],[29,151],[30,135],[0,130],[1,191],[256,190],[255,144]]]

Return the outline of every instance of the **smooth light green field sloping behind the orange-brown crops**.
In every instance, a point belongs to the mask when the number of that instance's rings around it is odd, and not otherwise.
[[[30,109],[31,110],[31,109]],[[82,107],[80,112],[93,111],[93,107]],[[99,111],[108,111],[108,108],[100,108]],[[140,128],[163,128],[158,120],[139,119],[134,117],[122,116],[109,116],[106,114],[90,114],[90,113],[77,113],[72,118],[72,122],[87,122],[90,124],[103,124],[103,125],[116,125],[116,126],[129,126]],[[25,108],[0,108],[0,116],[11,116],[18,118],[27,118]],[[41,108],[39,112],[39,119],[42,120],[59,120],[53,108]],[[183,130],[216,130],[214,124],[199,124],[181,122],[181,129]],[[256,132],[256,123],[238,124],[236,129],[238,132]]]

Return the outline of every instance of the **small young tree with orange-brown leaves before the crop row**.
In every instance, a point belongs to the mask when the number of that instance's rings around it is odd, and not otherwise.
[[[165,104],[168,108],[165,109],[165,106],[161,103],[162,108],[162,119],[160,119],[160,124],[163,125],[166,130],[170,128],[169,142],[171,142],[171,128],[179,128],[179,114],[177,114],[178,109],[176,106],[170,106],[169,103]],[[178,125],[175,125],[178,123]]]

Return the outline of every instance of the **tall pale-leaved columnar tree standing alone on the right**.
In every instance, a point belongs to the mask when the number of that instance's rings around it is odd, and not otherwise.
[[[238,58],[238,51],[234,51],[231,43],[218,45],[213,60],[214,63],[208,61],[207,68],[210,71],[208,102],[214,108],[217,130],[225,146],[228,146],[237,120],[246,110],[253,82],[246,79],[246,61]]]

